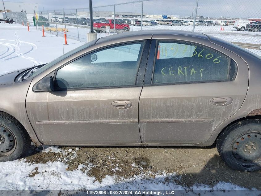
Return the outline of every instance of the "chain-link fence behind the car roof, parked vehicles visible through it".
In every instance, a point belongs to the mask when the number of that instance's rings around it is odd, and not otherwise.
[[[200,32],[261,55],[260,10],[259,0],[143,0],[93,7],[93,27],[98,38],[149,29]],[[45,24],[45,32],[63,36],[66,29],[68,38],[87,42],[89,8],[40,11],[35,16],[39,26]]]

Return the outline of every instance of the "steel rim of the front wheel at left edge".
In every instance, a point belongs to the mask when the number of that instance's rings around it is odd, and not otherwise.
[[[10,129],[0,124],[0,157],[11,155],[15,151],[16,139]]]

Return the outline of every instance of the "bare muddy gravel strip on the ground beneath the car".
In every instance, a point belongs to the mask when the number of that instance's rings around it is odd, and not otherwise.
[[[68,164],[68,171],[78,168],[79,164],[92,169],[87,172],[101,181],[106,175],[128,178],[148,173],[154,178],[157,173],[176,172],[178,178],[166,178],[166,183],[175,181],[179,185],[192,186],[203,183],[213,186],[219,181],[261,190],[261,170],[240,172],[230,169],[221,160],[215,146],[210,147],[60,147],[65,153],[42,152],[34,148],[25,155],[29,163],[62,161]],[[133,164],[135,163],[135,164]],[[36,170],[37,171],[37,170]],[[32,174],[34,175],[34,174]],[[177,180],[179,179],[179,180]]]

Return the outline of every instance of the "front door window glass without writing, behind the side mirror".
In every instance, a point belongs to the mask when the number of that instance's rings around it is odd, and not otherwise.
[[[124,44],[82,56],[57,71],[56,89],[134,85],[143,42]]]

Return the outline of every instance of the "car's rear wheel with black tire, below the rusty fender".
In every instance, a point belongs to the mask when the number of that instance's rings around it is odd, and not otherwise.
[[[261,169],[261,120],[248,119],[227,127],[217,138],[217,151],[232,169]]]

